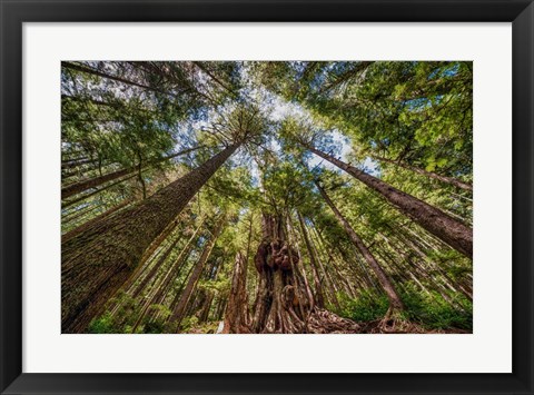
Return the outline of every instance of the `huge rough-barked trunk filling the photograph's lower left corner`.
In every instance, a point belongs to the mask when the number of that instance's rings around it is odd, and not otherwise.
[[[145,249],[236,151],[227,147],[148,199],[62,245],[61,330],[81,333],[135,270]]]

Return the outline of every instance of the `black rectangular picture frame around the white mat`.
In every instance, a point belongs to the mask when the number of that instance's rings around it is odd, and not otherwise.
[[[0,12],[2,394],[533,394],[532,0],[0,0]],[[89,21],[513,22],[513,373],[22,373],[22,24]]]

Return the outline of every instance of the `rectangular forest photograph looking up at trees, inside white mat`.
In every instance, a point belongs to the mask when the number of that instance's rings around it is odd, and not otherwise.
[[[62,334],[473,333],[473,62],[72,60],[60,91]]]

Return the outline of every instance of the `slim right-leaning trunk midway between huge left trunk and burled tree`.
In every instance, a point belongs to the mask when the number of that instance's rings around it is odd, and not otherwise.
[[[180,299],[178,300],[178,304],[172,310],[172,314],[170,316],[170,322],[172,323],[172,325],[176,325],[177,329],[179,328],[180,323],[184,319],[184,314],[186,312],[187,304],[189,303],[189,299],[191,298],[191,294],[197,286],[198,279],[202,274],[204,265],[206,265],[206,261],[211,255],[211,250],[215,247],[215,243],[217,241],[217,238],[222,231],[225,223],[226,223],[226,216],[222,215],[217,220],[217,224],[215,225],[211,237],[209,238],[208,241],[206,241],[206,246],[204,247],[202,254],[200,255],[200,258],[198,259],[198,261],[195,264],[195,268],[191,275],[189,276],[187,285],[181,292]]]

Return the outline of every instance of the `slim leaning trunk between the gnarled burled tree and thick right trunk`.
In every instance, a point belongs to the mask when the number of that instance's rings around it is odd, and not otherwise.
[[[319,192],[325,199],[326,204],[334,211],[334,215],[336,216],[337,220],[347,233],[350,240],[354,243],[354,245],[359,250],[359,253],[364,256],[365,260],[367,261],[367,264],[370,266],[376,277],[378,278],[378,282],[380,283],[382,288],[384,289],[384,292],[387,295],[387,298],[389,299],[388,315],[403,310],[404,309],[403,302],[400,300],[400,297],[398,296],[389,276],[382,268],[380,264],[375,259],[373,254],[369,251],[369,249],[365,245],[364,240],[362,240],[362,238],[358,236],[358,234],[356,234],[356,231],[350,226],[350,224],[348,224],[348,220],[337,209],[337,207],[334,205],[334,203],[332,201],[329,196],[326,194],[326,191],[317,182],[316,182],[316,186],[319,189]]]

